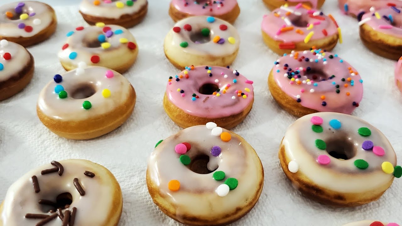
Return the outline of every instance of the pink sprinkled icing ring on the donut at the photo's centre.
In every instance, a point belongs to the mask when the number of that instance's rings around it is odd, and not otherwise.
[[[244,111],[254,100],[252,84],[247,82],[248,80],[240,73],[237,76],[237,71],[229,68],[218,66],[209,68],[211,69],[205,69],[205,66],[197,66],[193,70],[186,69],[177,75],[178,81],[176,77],[173,77],[166,86],[166,95],[169,101],[189,115],[209,119],[236,115]],[[209,70],[211,72],[208,72]],[[216,84],[220,89],[219,95],[201,94],[199,88],[204,84]],[[225,87],[228,87],[226,93],[223,92]],[[184,90],[184,97],[180,90]],[[240,95],[244,93],[246,98],[239,97],[238,91],[240,91]],[[193,94],[197,95],[198,98],[193,97]]]

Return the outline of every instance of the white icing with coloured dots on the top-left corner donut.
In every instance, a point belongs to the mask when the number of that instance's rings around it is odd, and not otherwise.
[[[32,37],[53,21],[54,11],[42,2],[20,1],[0,6],[0,36]]]

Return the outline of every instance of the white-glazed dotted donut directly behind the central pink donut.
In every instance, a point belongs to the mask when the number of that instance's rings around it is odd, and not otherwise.
[[[193,16],[177,22],[164,41],[166,57],[181,70],[192,64],[226,67],[236,58],[239,46],[236,28],[211,16]]]

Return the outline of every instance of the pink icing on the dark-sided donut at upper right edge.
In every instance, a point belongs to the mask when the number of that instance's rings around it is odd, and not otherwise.
[[[402,10],[402,8],[398,8],[398,10]],[[369,12],[363,15],[361,18],[362,21],[365,21],[365,19],[370,18],[369,21],[366,21],[365,24],[369,25],[371,28],[373,28],[376,31],[379,31],[381,33],[387,34],[387,35],[392,35],[396,37],[402,37],[402,13],[398,13],[392,8],[383,8],[380,10],[377,10],[375,12],[378,12],[380,18],[378,19],[375,15],[373,15],[374,12]],[[394,23],[391,24],[389,20],[386,20],[383,16],[389,16],[391,15]]]

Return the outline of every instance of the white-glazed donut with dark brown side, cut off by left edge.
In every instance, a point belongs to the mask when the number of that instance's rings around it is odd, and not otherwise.
[[[31,82],[33,56],[23,46],[0,41],[0,101],[11,97]]]

